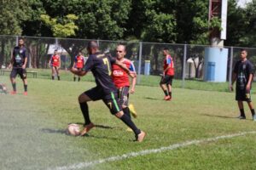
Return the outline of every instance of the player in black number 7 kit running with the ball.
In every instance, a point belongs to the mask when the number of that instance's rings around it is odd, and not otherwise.
[[[83,94],[79,95],[79,105],[84,116],[84,129],[81,131],[80,135],[83,136],[88,133],[92,127],[95,125],[90,122],[90,116],[88,111],[87,102],[93,100],[102,99],[105,105],[108,106],[109,111],[119,119],[121,119],[128,127],[131,127],[132,131],[135,133],[138,142],[142,142],[146,133],[138,129],[134,122],[131,121],[129,116],[126,116],[122,111],[121,105],[119,105],[117,88],[113,84],[111,77],[112,64],[120,65],[131,77],[130,71],[120,63],[118,60],[110,57],[107,54],[102,54],[99,51],[96,42],[88,42],[87,51],[90,56],[84,65],[82,71],[78,71],[72,68],[73,74],[78,76],[84,76],[88,71],[91,71],[96,80],[96,87],[85,91]]]

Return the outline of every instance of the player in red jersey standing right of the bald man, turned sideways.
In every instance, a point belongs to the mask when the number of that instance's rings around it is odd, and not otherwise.
[[[160,81],[160,87],[165,93],[165,100],[172,99],[172,79],[174,77],[174,64],[171,54],[167,48],[163,49],[164,60],[164,71]]]

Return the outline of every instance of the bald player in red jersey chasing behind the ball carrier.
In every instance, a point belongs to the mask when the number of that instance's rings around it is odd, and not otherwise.
[[[112,65],[112,77],[115,87],[118,88],[119,103],[120,105],[122,105],[124,113],[131,118],[130,109],[132,116],[137,116],[137,113],[134,110],[133,105],[130,105],[130,108],[128,107],[129,94],[134,94],[135,92],[137,75],[133,63],[131,62],[131,60],[125,59],[125,54],[125,45],[118,45],[116,48],[116,59],[119,60],[121,63],[125,64],[126,67],[130,70],[131,74],[134,75],[134,77],[132,77],[131,80],[131,90],[129,90],[129,75],[119,65]]]

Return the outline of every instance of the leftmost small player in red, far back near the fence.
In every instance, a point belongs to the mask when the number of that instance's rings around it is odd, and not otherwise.
[[[50,57],[49,66],[51,66],[51,79],[54,80],[55,75],[57,75],[58,80],[61,80],[59,71],[61,68],[61,57],[57,50],[55,50],[55,53]]]

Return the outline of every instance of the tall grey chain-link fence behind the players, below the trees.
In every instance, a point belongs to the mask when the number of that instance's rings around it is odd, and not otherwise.
[[[12,50],[18,43],[15,36],[0,36],[0,65],[6,68],[9,65]],[[49,58],[57,49],[61,55],[61,69],[69,69],[73,65],[74,56],[79,51],[86,52],[86,44],[90,40],[71,38],[49,37],[23,37],[27,48],[29,68],[47,68]],[[102,51],[115,55],[115,48],[119,43],[126,45],[126,58],[131,59],[137,69],[138,79],[142,77],[159,76],[163,71],[163,48],[168,48],[172,54],[175,66],[175,78],[186,80],[203,80],[205,74],[205,53],[209,46],[192,44],[171,44],[156,42],[125,42],[95,40]],[[226,81],[231,81],[231,71],[235,62],[239,59],[241,48],[224,47],[228,49],[228,61],[226,65]],[[256,66],[256,48],[246,48],[248,59]]]

